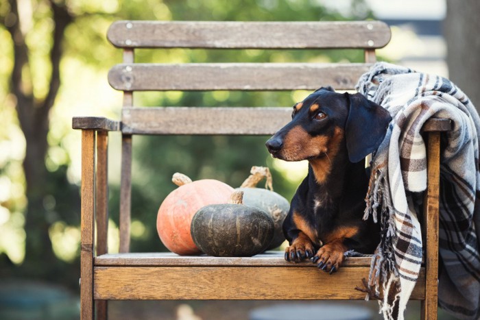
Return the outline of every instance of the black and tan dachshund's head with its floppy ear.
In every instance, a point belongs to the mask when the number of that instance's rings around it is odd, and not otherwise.
[[[389,112],[357,93],[320,88],[293,106],[291,121],[265,144],[286,161],[335,155],[346,144],[350,162],[359,162],[379,147],[392,120]]]

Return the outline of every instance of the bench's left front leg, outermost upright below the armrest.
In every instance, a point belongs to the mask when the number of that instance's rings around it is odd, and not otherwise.
[[[80,219],[80,318],[93,319],[93,233],[95,214],[95,131],[82,130],[82,209]]]

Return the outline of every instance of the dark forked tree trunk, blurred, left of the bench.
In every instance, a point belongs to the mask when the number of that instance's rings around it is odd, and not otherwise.
[[[49,112],[60,87],[60,59],[64,30],[73,21],[65,5],[48,1],[52,19],[55,23],[52,34],[52,46],[49,56],[51,73],[49,90],[43,99],[34,97],[32,76],[29,71],[29,48],[25,42],[19,20],[19,3],[9,0],[10,23],[5,26],[14,42],[14,66],[10,89],[16,98],[16,111],[25,136],[26,151],[23,160],[25,171],[27,212],[25,214],[25,260],[22,273],[28,278],[55,280],[58,278],[60,261],[53,253],[49,237],[49,221],[43,201],[48,194],[48,171],[45,167],[49,132]]]

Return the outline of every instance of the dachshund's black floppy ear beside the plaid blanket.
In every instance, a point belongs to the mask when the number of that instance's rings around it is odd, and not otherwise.
[[[348,158],[350,162],[359,162],[379,147],[392,116],[360,93],[345,93],[345,97],[348,103],[345,125]]]

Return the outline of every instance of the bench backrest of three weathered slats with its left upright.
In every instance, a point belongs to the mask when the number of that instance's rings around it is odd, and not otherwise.
[[[118,21],[108,40],[123,49],[123,63],[108,74],[123,90],[120,251],[129,251],[132,134],[274,134],[291,108],[135,108],[132,94],[145,90],[352,90],[387,45],[389,27],[379,21],[203,22]],[[134,49],[363,49],[365,62],[134,63]],[[178,121],[188,115],[189,122]],[[194,116],[193,116],[194,115]]]

